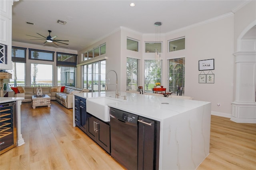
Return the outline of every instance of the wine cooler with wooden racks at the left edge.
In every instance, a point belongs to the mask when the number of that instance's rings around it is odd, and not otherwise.
[[[16,103],[0,104],[0,154],[17,146]]]

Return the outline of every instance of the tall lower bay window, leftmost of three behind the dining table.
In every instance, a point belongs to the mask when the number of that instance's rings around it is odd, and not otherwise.
[[[140,60],[127,57],[126,90],[138,90],[140,86]]]

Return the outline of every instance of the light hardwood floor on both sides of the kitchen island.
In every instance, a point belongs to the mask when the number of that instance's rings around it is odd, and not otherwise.
[[[22,103],[25,144],[0,155],[1,170],[120,170],[120,164],[72,124],[72,109],[56,101],[32,109]],[[198,170],[256,170],[256,124],[212,116],[210,154]]]

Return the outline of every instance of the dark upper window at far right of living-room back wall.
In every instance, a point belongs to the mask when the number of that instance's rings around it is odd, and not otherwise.
[[[57,66],[76,67],[76,54],[57,52]]]

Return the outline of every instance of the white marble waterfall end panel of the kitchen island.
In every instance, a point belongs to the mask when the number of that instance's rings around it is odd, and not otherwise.
[[[164,119],[159,169],[196,169],[210,149],[211,103]]]

